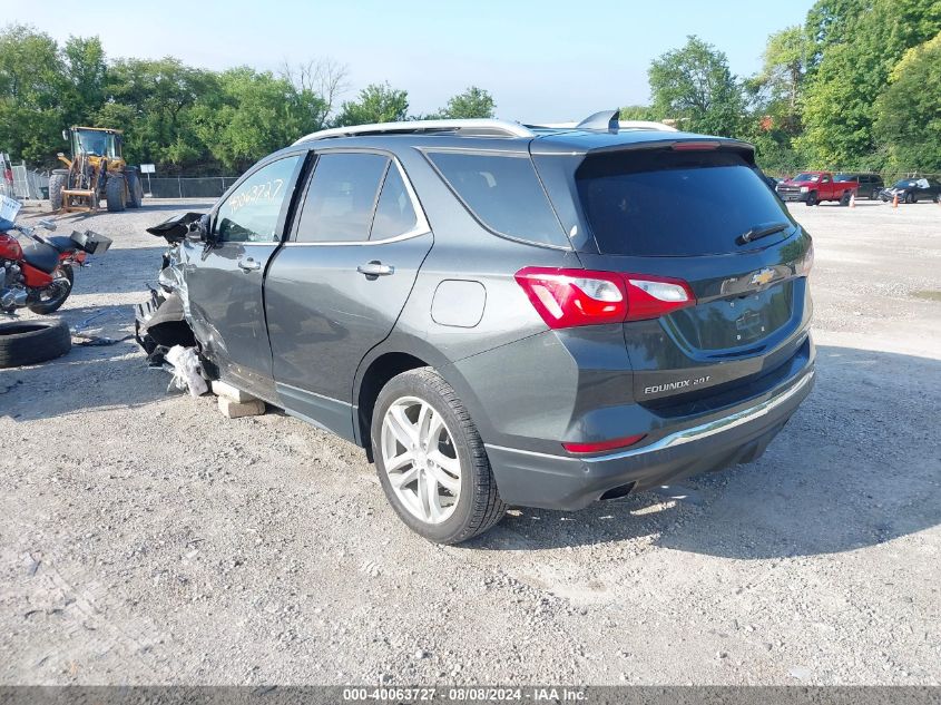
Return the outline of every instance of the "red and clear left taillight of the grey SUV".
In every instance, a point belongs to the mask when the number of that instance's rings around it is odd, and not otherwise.
[[[665,276],[525,267],[516,280],[550,329],[657,319],[696,303],[686,282]]]

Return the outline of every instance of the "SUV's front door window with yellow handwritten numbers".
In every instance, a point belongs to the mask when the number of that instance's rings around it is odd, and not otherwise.
[[[278,239],[281,209],[294,188],[302,155],[285,157],[246,178],[219,206],[216,235],[226,243],[271,243]]]

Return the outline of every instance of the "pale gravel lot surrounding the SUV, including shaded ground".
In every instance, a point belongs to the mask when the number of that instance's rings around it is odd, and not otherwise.
[[[127,335],[144,227],[208,206],[59,217],[115,239],[59,315]],[[767,453],[460,547],[356,448],[167,393],[133,341],[0,371],[0,683],[938,684],[941,207],[793,212],[819,381]]]

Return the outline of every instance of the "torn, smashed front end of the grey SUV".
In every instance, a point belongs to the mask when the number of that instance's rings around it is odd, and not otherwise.
[[[208,226],[208,216],[185,213],[148,227],[147,232],[163,237],[169,247],[163,255],[157,286],[148,287],[150,298],[137,304],[135,311],[135,339],[147,353],[153,368],[166,366],[166,354],[175,345],[197,346],[189,325],[189,296],[183,272],[180,244],[188,237],[202,237]]]

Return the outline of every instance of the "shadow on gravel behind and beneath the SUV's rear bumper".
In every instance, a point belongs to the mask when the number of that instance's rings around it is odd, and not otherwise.
[[[941,522],[941,361],[822,346],[811,396],[756,462],[579,512],[523,509],[465,544],[532,550],[649,536],[738,559],[850,551]]]

